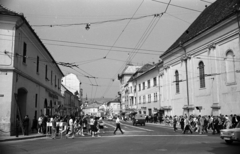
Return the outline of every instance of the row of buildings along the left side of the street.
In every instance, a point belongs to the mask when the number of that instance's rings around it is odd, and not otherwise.
[[[0,5],[0,135],[14,135],[17,116],[78,113],[63,76],[25,17]]]

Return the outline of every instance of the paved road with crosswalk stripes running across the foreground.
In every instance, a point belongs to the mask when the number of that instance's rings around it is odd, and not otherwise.
[[[238,154],[240,143],[227,145],[216,135],[182,134],[172,128],[123,123],[124,134],[113,134],[108,121],[101,137],[50,138],[0,143],[0,154]]]

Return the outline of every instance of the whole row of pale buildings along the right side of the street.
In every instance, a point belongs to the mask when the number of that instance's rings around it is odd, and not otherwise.
[[[217,0],[160,55],[119,75],[122,112],[240,114],[238,0]]]

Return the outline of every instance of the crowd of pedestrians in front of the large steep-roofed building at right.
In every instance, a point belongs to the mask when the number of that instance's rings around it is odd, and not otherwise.
[[[208,133],[219,134],[221,129],[235,128],[240,122],[240,116],[235,115],[219,115],[219,116],[165,116],[164,123],[173,126],[174,131],[177,131],[177,126],[180,126],[182,133],[197,132],[199,134]]]

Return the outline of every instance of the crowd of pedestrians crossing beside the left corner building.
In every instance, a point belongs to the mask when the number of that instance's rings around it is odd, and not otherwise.
[[[74,138],[76,135],[100,137],[104,132],[102,117],[94,116],[40,116],[38,118],[38,133],[51,134],[52,139],[57,135]]]

